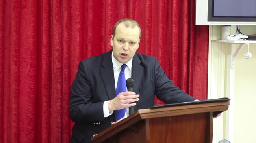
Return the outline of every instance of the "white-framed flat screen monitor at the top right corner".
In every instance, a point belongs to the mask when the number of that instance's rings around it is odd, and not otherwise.
[[[198,25],[255,25],[256,0],[197,0]]]

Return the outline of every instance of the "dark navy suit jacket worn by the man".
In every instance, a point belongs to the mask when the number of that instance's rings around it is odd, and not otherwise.
[[[90,143],[93,134],[115,121],[115,111],[106,118],[103,115],[104,101],[116,97],[111,53],[112,50],[79,63],[69,102],[69,116],[75,122],[71,143]],[[135,111],[152,107],[154,95],[167,104],[195,100],[173,85],[154,57],[135,53],[132,79],[134,91],[140,95]]]

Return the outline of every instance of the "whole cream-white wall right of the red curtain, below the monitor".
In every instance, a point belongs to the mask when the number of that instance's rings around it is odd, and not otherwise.
[[[235,34],[234,28],[232,26],[232,34]],[[240,28],[244,34],[256,34],[256,25],[241,25]],[[234,67],[230,68],[230,49],[234,54],[239,44],[212,42],[220,38],[221,26],[210,25],[209,31],[208,99],[231,99],[230,109],[213,120],[213,143],[221,139],[256,143],[256,44],[249,44],[250,59],[243,56],[247,52],[244,45]]]

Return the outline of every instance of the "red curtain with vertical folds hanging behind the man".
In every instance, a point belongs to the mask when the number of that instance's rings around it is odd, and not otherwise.
[[[0,143],[69,141],[78,62],[110,50],[125,17],[141,26],[138,51],[206,99],[208,26],[195,25],[194,0],[0,0]]]

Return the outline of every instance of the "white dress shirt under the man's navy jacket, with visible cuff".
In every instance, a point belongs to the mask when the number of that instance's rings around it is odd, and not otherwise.
[[[117,59],[115,59],[113,52],[111,54],[111,59],[112,59],[112,64],[113,64],[113,71],[114,71],[114,78],[115,78],[115,89],[117,88],[117,81],[118,81],[118,76],[119,73],[121,72],[122,69],[122,65],[123,63],[120,63],[119,61],[117,61]],[[130,61],[128,61],[126,63],[126,68],[124,69],[124,76],[125,76],[125,80],[127,80],[128,78],[132,77],[132,59]],[[127,91],[127,89],[126,89]],[[108,101],[105,101],[103,103],[103,112],[104,112],[104,117],[108,117],[111,114],[113,114],[113,111],[109,112],[109,108],[108,108]],[[124,114],[124,118],[129,116],[129,108],[125,108],[125,114]]]

